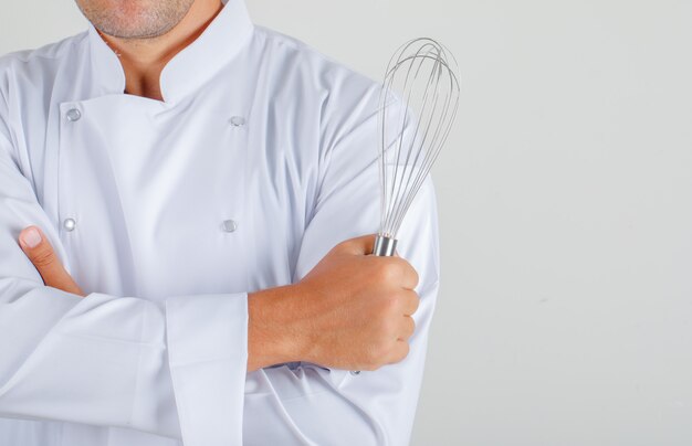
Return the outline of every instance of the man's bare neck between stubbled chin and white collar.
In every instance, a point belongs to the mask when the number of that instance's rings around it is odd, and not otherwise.
[[[192,43],[221,12],[221,0],[197,0],[168,33],[151,39],[119,39],[101,33],[125,72],[125,93],[162,100],[160,77],[166,64]]]

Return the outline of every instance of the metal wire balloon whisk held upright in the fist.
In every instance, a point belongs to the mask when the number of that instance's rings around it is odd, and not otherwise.
[[[374,255],[395,254],[403,217],[447,141],[459,108],[458,71],[447,47],[428,38],[405,43],[389,61],[378,107],[381,223]]]

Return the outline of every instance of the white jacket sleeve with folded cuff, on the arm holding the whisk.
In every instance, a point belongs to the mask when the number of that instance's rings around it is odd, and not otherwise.
[[[192,433],[186,446],[239,444],[247,294],[171,296],[159,305],[46,287],[18,244],[31,224],[64,253],[20,171],[0,107],[0,417],[174,438]],[[213,440],[207,440],[210,425],[221,426]]]

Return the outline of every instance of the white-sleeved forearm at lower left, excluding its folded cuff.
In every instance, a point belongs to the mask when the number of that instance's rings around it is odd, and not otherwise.
[[[0,284],[0,416],[180,436],[159,308],[28,279]]]

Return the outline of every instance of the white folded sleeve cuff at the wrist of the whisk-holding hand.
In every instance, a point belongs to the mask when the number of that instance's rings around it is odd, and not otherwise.
[[[166,325],[182,443],[241,445],[248,295],[170,297]]]

